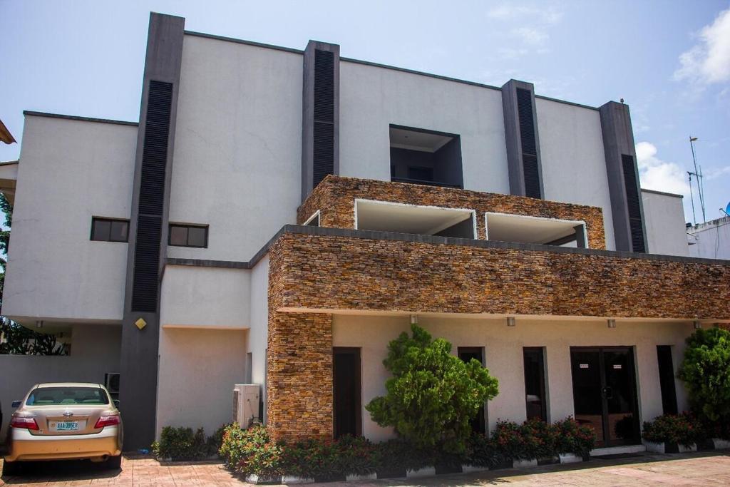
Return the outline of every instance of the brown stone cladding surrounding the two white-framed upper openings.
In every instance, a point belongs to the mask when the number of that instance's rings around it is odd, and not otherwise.
[[[380,202],[420,204],[445,208],[476,210],[477,238],[485,239],[485,212],[582,220],[588,234],[588,247],[604,250],[606,237],[603,211],[599,207],[550,202],[543,199],[509,194],[480,193],[439,186],[391,183],[354,177],[327,176],[297,210],[301,224],[320,211],[320,226],[340,229],[355,228],[355,199]]]

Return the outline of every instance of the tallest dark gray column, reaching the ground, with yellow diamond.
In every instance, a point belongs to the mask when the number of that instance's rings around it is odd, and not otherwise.
[[[122,322],[119,399],[124,421],[124,450],[147,448],[155,439],[159,284],[167,250],[169,188],[184,30],[184,18],[150,14],[134,160]],[[142,329],[135,324],[140,319],[146,323]]]

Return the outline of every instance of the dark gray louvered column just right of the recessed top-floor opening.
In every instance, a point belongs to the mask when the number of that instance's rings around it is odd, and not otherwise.
[[[502,108],[510,193],[544,199],[534,85],[518,80],[505,83]]]

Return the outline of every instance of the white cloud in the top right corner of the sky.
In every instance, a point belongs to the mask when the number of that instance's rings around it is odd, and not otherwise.
[[[730,81],[730,9],[720,12],[698,37],[698,44],[680,54],[675,79],[700,84]]]

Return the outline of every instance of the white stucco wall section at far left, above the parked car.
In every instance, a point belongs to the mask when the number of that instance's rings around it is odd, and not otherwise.
[[[129,218],[136,147],[135,126],[26,116],[5,315],[122,319],[127,244],[92,242],[91,217]]]

